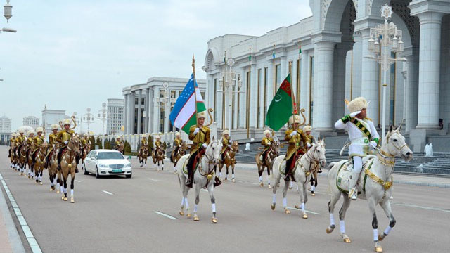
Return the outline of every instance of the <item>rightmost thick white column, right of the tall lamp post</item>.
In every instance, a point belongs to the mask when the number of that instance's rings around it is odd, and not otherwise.
[[[439,129],[441,25],[444,13],[425,12],[420,20],[418,124],[416,129]]]

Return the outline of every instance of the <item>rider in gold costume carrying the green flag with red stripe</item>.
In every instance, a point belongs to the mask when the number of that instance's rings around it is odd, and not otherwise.
[[[299,129],[300,116],[292,115],[289,117],[289,124],[292,126],[290,129],[285,131],[285,141],[288,141],[288,151],[286,152],[286,170],[285,170],[285,180],[288,180],[288,174],[295,166],[295,161],[298,155],[304,154],[304,147],[302,147],[301,142],[307,143],[307,138],[303,131]]]

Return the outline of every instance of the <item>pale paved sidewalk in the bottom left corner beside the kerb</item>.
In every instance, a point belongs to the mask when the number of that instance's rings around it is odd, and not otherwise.
[[[4,191],[4,180],[0,174],[0,252],[25,252],[22,241],[20,240],[19,233],[15,228],[11,212],[9,212],[8,205],[6,203]]]

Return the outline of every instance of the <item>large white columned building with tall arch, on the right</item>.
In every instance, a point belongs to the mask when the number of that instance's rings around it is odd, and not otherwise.
[[[407,62],[394,63],[388,71],[386,124],[405,124],[413,151],[423,150],[433,136],[447,134],[449,0],[309,3],[313,15],[296,24],[262,36],[226,34],[208,41],[203,67],[207,73],[207,103],[215,109],[219,128],[231,126],[233,139],[247,138],[247,131],[250,138],[261,136],[265,112],[290,65],[297,104],[306,110],[306,123],[317,135],[336,136],[334,122],[348,113],[343,101],[358,96],[370,101],[368,117],[380,127],[382,73],[378,63],[364,56],[370,54],[370,28],[384,22],[380,9],[387,3],[393,11],[390,20],[403,33],[404,52],[400,56]],[[243,81],[243,93],[232,96],[231,101],[226,94],[217,93],[226,71],[224,58],[236,61],[233,70]]]

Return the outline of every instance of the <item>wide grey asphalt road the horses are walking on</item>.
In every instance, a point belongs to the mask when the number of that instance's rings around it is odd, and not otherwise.
[[[81,171],[71,204],[49,192],[47,171],[39,186],[9,169],[6,153],[1,146],[0,172],[43,252],[373,252],[372,219],[365,200],[352,202],[347,212],[352,243],[342,242],[338,227],[326,234],[324,176],[319,177],[316,196],[309,196],[309,219],[302,219],[299,210],[284,214],[281,188],[272,211],[271,189],[259,187],[256,169],[237,169],[236,183],[226,181],[214,190],[218,223],[212,224],[210,198],[204,191],[200,221],[179,216],[181,190],[169,162],[165,171],[155,171],[152,166],[139,168],[134,160],[131,179],[96,179]],[[194,195],[191,190],[191,209]],[[397,225],[381,243],[385,252],[449,252],[449,195],[450,188],[395,184],[392,209]],[[288,206],[299,200],[290,190]],[[335,211],[337,223],[341,202]],[[387,217],[380,207],[377,214],[383,231]]]

